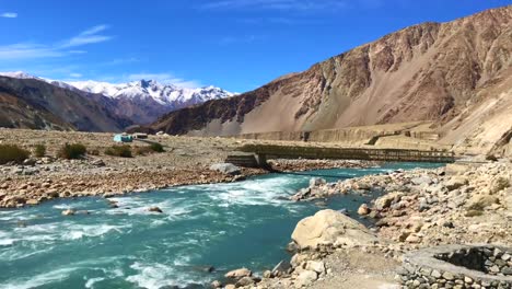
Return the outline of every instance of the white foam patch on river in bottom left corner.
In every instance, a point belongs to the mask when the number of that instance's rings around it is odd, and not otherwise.
[[[13,280],[7,280],[0,284],[0,289],[30,289],[43,285],[65,280],[77,268],[59,268],[53,271]]]

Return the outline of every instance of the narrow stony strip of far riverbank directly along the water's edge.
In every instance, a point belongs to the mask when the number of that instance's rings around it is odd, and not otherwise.
[[[368,167],[373,162],[278,160],[276,170],[288,172],[334,167]],[[43,158],[25,165],[0,166],[0,208],[34,206],[56,198],[85,196],[113,197],[129,193],[150,192],[183,185],[230,183],[268,171],[241,167],[229,174],[210,170],[210,165],[196,167],[108,165],[101,158],[86,160],[58,160]]]

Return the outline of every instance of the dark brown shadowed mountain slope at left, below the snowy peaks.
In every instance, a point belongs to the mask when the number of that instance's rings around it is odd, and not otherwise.
[[[37,79],[0,77],[0,127],[120,131],[130,120],[103,95],[71,91]]]

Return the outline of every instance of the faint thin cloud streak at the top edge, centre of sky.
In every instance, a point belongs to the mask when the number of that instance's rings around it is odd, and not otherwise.
[[[347,7],[345,0],[217,0],[202,5],[203,9],[265,9],[265,10],[338,10]]]

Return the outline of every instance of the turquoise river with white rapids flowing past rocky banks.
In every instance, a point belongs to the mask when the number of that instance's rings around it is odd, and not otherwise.
[[[0,289],[203,288],[229,269],[260,274],[290,258],[284,247],[299,220],[325,207],[356,216],[372,198],[340,196],[323,207],[287,200],[311,177],[334,182],[419,166],[439,164],[268,174],[120,196],[118,208],[86,197],[0,210]],[[149,212],[152,206],[163,213]],[[90,215],[61,216],[68,208]]]

